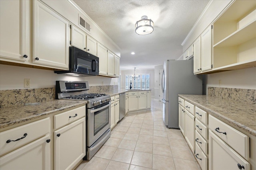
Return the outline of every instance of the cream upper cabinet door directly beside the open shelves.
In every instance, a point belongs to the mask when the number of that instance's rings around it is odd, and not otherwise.
[[[212,69],[212,27],[208,27],[201,35],[201,68],[202,71]]]

